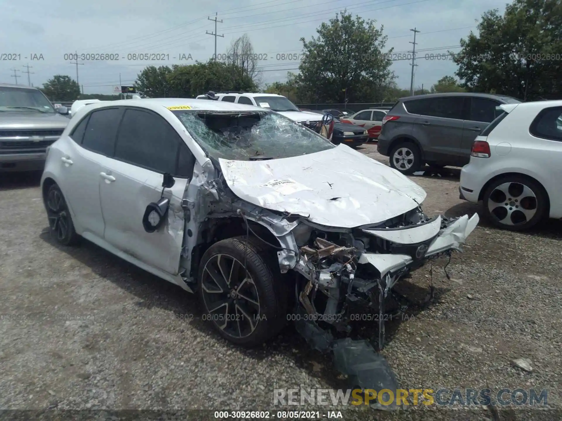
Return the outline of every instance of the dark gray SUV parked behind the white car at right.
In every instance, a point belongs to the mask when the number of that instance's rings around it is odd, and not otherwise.
[[[428,94],[401,98],[384,117],[377,150],[392,168],[411,174],[424,163],[462,167],[478,136],[501,111],[500,104],[519,103],[504,95]]]

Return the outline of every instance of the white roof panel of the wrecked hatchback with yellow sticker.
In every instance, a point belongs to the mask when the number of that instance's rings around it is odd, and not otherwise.
[[[159,110],[162,107],[188,106],[193,109],[209,111],[264,111],[264,108],[254,107],[234,102],[213,101],[209,99],[193,98],[143,98],[143,99],[119,99],[115,101],[102,101],[90,104],[88,109],[103,107],[142,107]]]

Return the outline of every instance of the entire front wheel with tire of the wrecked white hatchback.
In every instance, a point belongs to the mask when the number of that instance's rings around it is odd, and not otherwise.
[[[287,321],[290,290],[275,251],[253,237],[247,248],[246,237],[218,241],[201,259],[203,318],[236,345],[260,345],[279,333]]]

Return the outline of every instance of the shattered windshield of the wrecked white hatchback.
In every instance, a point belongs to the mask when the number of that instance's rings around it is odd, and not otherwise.
[[[329,140],[270,111],[176,110],[189,134],[214,158],[290,158],[334,148]]]

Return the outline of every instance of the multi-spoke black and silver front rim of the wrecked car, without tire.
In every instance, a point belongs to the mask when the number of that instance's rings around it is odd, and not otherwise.
[[[207,318],[233,338],[256,330],[260,321],[260,299],[256,285],[239,260],[216,254],[207,261],[201,279]]]

